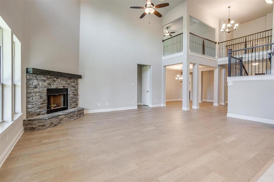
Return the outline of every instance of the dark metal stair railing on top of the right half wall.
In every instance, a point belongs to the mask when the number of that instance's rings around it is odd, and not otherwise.
[[[251,76],[271,74],[274,43],[227,51],[228,76]]]

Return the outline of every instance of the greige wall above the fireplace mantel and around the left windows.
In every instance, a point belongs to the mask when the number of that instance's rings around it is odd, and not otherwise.
[[[79,72],[80,2],[1,0],[0,15],[21,42],[23,112],[22,118],[0,137],[1,156],[12,147],[26,118],[26,68]]]

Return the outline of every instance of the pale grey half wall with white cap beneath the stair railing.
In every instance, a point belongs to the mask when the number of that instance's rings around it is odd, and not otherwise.
[[[264,80],[267,77],[272,79]],[[233,79],[228,79],[228,116],[274,124],[274,75]]]

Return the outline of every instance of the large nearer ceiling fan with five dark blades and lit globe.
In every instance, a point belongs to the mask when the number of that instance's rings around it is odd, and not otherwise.
[[[154,5],[153,3],[151,3],[151,0],[146,0],[147,4],[145,5],[145,7],[140,7],[140,6],[131,6],[130,8],[135,8],[135,9],[145,9],[145,12],[140,16],[140,18],[144,18],[144,16],[146,14],[151,14],[153,13],[154,15],[158,16],[158,17],[162,17],[161,13],[159,13],[158,11],[155,10],[155,8],[163,8],[166,6],[169,6],[168,3],[162,3],[162,4],[158,4],[158,5]]]

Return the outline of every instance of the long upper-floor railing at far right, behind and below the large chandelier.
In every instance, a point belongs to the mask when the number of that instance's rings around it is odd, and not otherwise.
[[[249,51],[249,53],[254,52],[254,49],[246,49],[259,45],[265,45],[272,42],[272,29],[265,30],[262,32],[254,33],[251,35],[246,35],[243,37],[239,37],[236,39],[227,40],[224,42],[219,42],[219,58],[227,57],[228,50],[242,50],[244,52],[238,52],[239,54],[243,54]],[[262,46],[263,47],[263,46]],[[262,51],[262,47],[260,47],[259,51]]]

